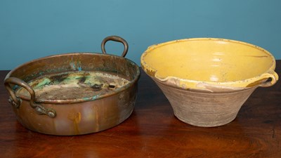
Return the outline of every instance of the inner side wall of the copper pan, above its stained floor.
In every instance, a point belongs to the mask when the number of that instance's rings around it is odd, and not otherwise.
[[[116,74],[129,80],[129,84],[119,88],[118,91],[122,91],[131,86],[138,80],[140,75],[138,65],[123,57],[102,53],[67,53],[52,55],[27,62],[15,68],[15,70],[12,70],[6,78],[18,77],[28,83],[32,79],[37,79],[44,75],[74,71],[106,72]],[[14,86],[13,88],[18,88],[18,86]],[[99,96],[99,98],[111,96],[112,94],[113,93],[108,93]],[[28,100],[26,96],[20,96],[20,98]],[[75,102],[81,100],[85,101],[85,99],[76,98]],[[67,101],[71,102],[72,100]],[[40,102],[40,100],[37,100],[37,102]]]

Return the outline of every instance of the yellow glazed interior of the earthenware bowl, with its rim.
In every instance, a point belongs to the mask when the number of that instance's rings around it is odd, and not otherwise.
[[[228,39],[181,39],[150,46],[141,65],[151,77],[181,88],[271,86],[278,79],[268,51]],[[270,83],[264,83],[268,78]]]

